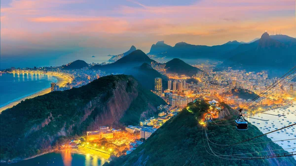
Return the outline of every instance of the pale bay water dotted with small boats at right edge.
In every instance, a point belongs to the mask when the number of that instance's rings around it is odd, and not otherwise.
[[[294,102],[294,104],[296,104],[296,102]],[[285,114],[285,116],[281,116],[281,117],[275,116],[278,114],[280,115]],[[265,111],[263,113],[252,115],[251,117],[257,118],[257,119],[247,118],[249,123],[255,125],[262,133],[268,133],[276,129],[283,128],[284,126],[289,126],[293,123],[296,123],[296,105],[294,107],[290,106],[286,109],[278,108],[274,110]],[[262,120],[258,120],[258,119],[262,119]],[[296,131],[296,127],[293,126],[278,132],[267,134],[267,137],[269,137],[273,141],[293,139],[293,138],[296,138],[295,131]],[[296,150],[296,140],[277,141],[275,143],[277,143],[284,149],[289,148],[287,149],[288,152],[292,152]],[[294,158],[296,159],[296,156],[294,156]]]

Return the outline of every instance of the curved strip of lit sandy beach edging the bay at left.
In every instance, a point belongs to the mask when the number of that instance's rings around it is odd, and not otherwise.
[[[68,78],[67,77],[63,77],[61,75],[57,75],[57,74],[47,74],[47,75],[50,75],[50,76],[53,76],[57,79],[57,85],[59,86],[62,86],[62,85],[65,85],[66,83],[69,82]],[[45,95],[45,94],[48,94],[50,93],[50,87],[49,88],[45,88],[41,91],[37,91],[33,94],[30,94],[28,96],[25,96],[25,97],[21,97],[21,99],[18,99],[18,100],[15,100],[15,101],[12,101],[2,107],[0,107],[0,113],[8,108],[11,108],[13,107],[14,105],[20,103],[21,101],[23,100],[26,100],[26,99],[32,99],[32,98],[35,98],[37,96],[41,96],[41,95]]]

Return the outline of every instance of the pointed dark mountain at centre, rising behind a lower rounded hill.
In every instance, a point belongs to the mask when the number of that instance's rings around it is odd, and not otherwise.
[[[143,63],[150,64],[151,62],[156,63],[154,60],[151,60],[143,51],[136,50],[130,54],[122,57],[112,64],[107,65],[95,65],[91,69],[103,70],[106,72],[115,72],[115,73],[124,73],[126,69],[130,69],[136,66],[140,66]]]

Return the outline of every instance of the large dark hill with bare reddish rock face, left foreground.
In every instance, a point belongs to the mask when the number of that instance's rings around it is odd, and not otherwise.
[[[0,114],[0,160],[40,154],[98,126],[136,125],[157,115],[160,104],[166,102],[128,75],[27,99]]]

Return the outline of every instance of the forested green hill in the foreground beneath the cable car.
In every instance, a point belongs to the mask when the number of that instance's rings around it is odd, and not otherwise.
[[[191,102],[188,106],[188,109],[184,108],[176,117],[167,121],[131,154],[117,158],[104,166],[296,166],[293,157],[235,160],[241,156],[259,157],[270,155],[269,152],[254,152],[282,149],[273,142],[230,147],[213,144],[233,144],[262,134],[259,129],[251,124],[249,124],[249,130],[237,131],[233,119],[216,121],[220,126],[208,124],[205,127],[209,140],[213,142],[209,142],[209,145],[215,153],[222,155],[248,154],[231,158],[234,160],[216,157],[209,148],[203,127],[198,123],[201,115],[209,106],[203,101]],[[222,111],[227,109],[229,107],[224,105]],[[233,110],[227,111],[233,112]],[[266,136],[261,136],[248,143],[266,141],[271,140]],[[275,152],[283,153],[284,151]],[[229,157],[223,156],[222,158],[227,159]]]

